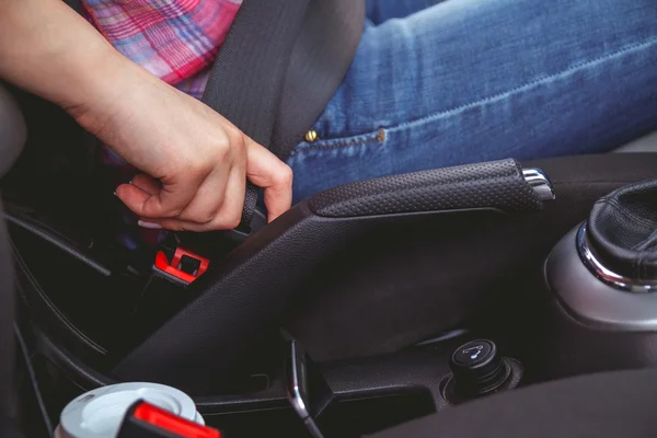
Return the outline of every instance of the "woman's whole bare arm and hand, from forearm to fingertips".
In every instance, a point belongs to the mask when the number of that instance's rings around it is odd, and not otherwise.
[[[60,0],[0,0],[0,78],[67,108],[143,172],[116,189],[143,226],[234,228],[246,178],[265,188],[269,220],[290,207],[286,164],[123,57]]]

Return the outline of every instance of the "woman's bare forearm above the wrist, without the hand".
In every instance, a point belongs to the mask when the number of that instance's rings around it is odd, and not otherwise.
[[[139,69],[60,0],[0,0],[0,78],[77,111],[108,105]]]

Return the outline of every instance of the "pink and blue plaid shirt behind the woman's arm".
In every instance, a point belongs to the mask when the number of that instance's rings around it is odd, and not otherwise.
[[[242,0],[83,0],[87,19],[124,56],[196,99],[203,96],[219,47]],[[113,184],[128,182],[135,169],[108,148],[102,162],[114,166]],[[127,247],[152,245],[163,233],[136,230],[124,215],[118,240]]]

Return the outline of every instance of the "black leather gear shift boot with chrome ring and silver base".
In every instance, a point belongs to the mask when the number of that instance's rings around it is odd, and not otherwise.
[[[587,325],[657,331],[657,181],[620,188],[593,206],[545,265],[562,308]]]

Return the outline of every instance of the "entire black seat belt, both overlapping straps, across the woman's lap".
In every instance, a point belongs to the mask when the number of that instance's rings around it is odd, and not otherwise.
[[[364,23],[362,0],[244,0],[203,102],[285,160],[333,96]],[[247,183],[239,230],[258,193]]]

